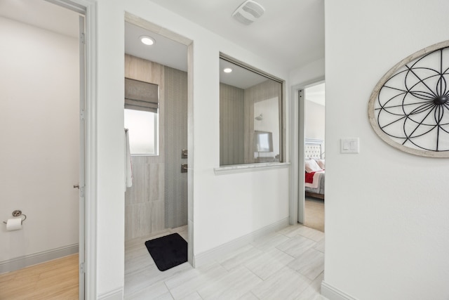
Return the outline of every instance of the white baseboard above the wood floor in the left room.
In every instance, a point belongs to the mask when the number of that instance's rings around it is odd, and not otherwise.
[[[60,247],[57,249],[51,249],[48,251],[20,256],[16,257],[15,259],[8,259],[7,261],[1,261],[0,274],[25,268],[27,266],[33,266],[37,263],[43,263],[45,261],[51,261],[53,259],[60,259],[61,257],[78,253],[78,249],[78,244],[71,244],[69,246]]]

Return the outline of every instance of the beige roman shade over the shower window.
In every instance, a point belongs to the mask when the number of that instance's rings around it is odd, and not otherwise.
[[[159,86],[149,82],[125,78],[125,108],[157,112]]]

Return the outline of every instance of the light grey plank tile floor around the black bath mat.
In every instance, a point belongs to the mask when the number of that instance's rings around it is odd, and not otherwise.
[[[126,242],[125,299],[304,299],[320,294],[324,233],[288,226],[199,268],[189,263],[159,271],[145,247],[151,238],[180,233],[187,226]]]

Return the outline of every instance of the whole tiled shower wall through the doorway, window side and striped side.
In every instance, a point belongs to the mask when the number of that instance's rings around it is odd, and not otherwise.
[[[159,155],[133,156],[125,193],[125,240],[187,225],[187,72],[125,56],[125,77],[159,85]]]

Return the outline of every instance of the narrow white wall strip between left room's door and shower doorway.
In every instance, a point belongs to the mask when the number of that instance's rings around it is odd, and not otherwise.
[[[123,287],[125,23],[123,1],[99,0],[97,9],[97,294],[102,295]]]

